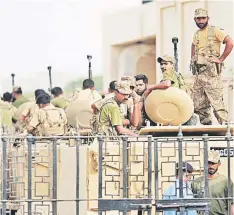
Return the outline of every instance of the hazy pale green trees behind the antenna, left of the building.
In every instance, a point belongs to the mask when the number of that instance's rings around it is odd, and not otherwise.
[[[84,79],[86,78],[79,78],[77,80],[74,81],[70,81],[64,88],[65,92],[71,92],[73,91],[75,88],[81,88],[82,89],[82,83],[84,81]],[[95,89],[97,91],[99,90],[103,90],[103,76],[94,76],[93,77],[93,81],[95,83]]]

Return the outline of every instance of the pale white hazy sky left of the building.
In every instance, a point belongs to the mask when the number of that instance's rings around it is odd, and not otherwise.
[[[0,84],[11,90],[11,73],[24,91],[64,86],[88,74],[102,73],[102,17],[134,7],[141,0],[1,0]]]

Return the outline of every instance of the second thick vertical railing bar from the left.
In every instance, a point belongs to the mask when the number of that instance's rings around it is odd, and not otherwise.
[[[33,136],[28,138],[28,214],[32,214],[32,144],[34,143]]]

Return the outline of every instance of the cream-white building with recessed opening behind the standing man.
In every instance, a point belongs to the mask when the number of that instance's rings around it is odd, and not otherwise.
[[[211,25],[223,28],[234,38],[232,1],[154,1],[104,17],[104,88],[122,75],[139,73],[146,74],[150,84],[159,82],[161,71],[157,58],[164,54],[174,55],[173,37],[179,39],[179,71],[192,83],[193,76],[189,71],[191,42],[197,29],[193,17],[194,10],[200,7],[208,9]],[[226,59],[223,72],[224,99],[229,112],[233,109],[230,87],[233,59],[234,51]]]

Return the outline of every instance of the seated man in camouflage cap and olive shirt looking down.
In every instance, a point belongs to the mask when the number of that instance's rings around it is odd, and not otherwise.
[[[107,136],[127,134],[136,137],[137,135],[123,127],[120,104],[126,103],[132,93],[127,81],[116,84],[114,98],[108,99],[100,108],[99,127],[100,133]]]

